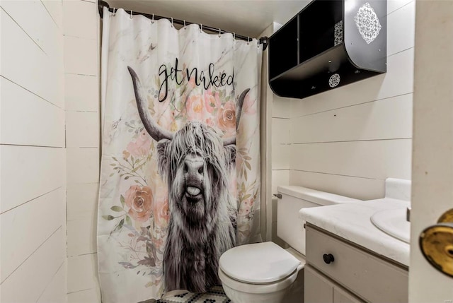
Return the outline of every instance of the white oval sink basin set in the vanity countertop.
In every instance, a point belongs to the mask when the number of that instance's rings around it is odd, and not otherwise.
[[[406,221],[406,208],[379,210],[370,219],[386,234],[406,243],[411,242],[411,223]]]

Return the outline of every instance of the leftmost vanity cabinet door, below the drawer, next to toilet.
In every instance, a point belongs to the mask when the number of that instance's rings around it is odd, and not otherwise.
[[[310,266],[304,272],[304,303],[333,303],[333,284]]]

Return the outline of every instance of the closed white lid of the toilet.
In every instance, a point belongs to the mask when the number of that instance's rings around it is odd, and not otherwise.
[[[272,283],[293,273],[300,261],[273,242],[236,246],[220,257],[220,269],[245,283]]]

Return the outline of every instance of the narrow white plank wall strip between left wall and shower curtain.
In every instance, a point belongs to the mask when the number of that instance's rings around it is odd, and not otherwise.
[[[63,0],[67,142],[68,302],[101,302],[96,225],[99,64],[96,0]]]

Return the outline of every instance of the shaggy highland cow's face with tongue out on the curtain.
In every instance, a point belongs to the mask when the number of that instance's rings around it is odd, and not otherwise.
[[[161,141],[158,149],[159,172],[171,189],[170,210],[176,221],[196,227],[214,220],[235,149],[224,147],[214,129],[197,121],[185,124],[172,141]]]

